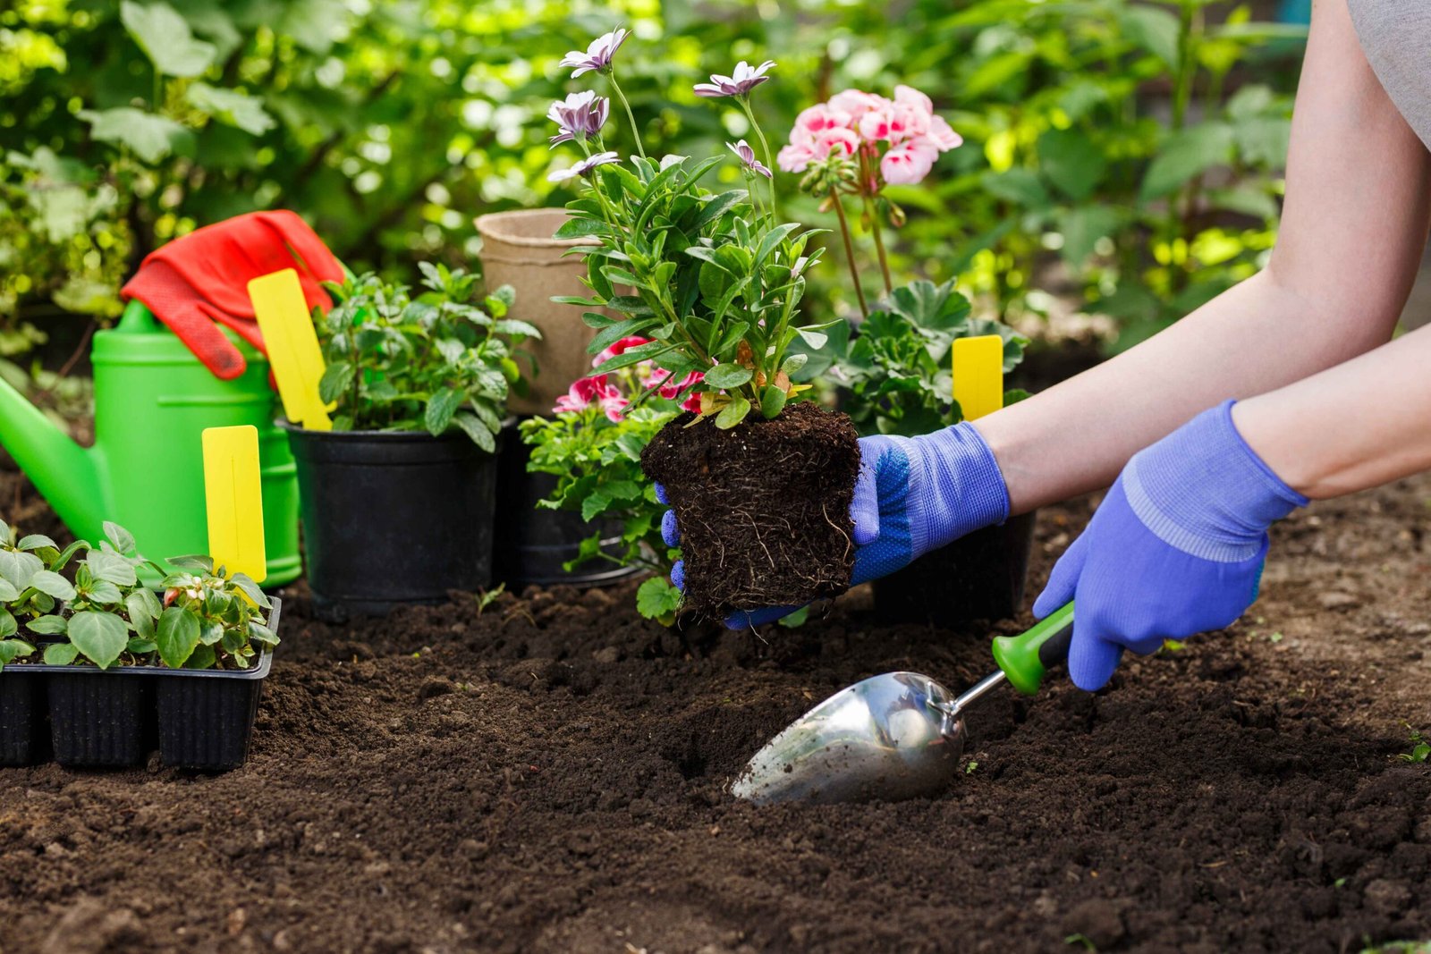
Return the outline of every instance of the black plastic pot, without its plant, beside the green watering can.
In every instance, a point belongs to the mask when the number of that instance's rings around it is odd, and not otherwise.
[[[491,582],[497,455],[459,433],[282,426],[319,616],[382,615]]]

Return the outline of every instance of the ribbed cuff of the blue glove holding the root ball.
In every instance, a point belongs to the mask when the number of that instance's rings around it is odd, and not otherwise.
[[[967,421],[910,438],[919,455],[912,468],[914,499],[929,495],[926,519],[913,525],[914,556],[1009,519],[1009,488],[993,451]],[[917,476],[916,476],[917,475]],[[914,481],[923,483],[916,488]]]

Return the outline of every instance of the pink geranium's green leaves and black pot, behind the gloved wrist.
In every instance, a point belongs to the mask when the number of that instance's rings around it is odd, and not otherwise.
[[[1023,359],[1027,339],[1000,322],[970,316],[953,282],[919,280],[894,289],[854,338],[831,329],[821,358],[844,388],[841,406],[861,435],[930,433],[963,421],[953,399],[950,352],[960,338],[1003,338],[1003,369]],[[1005,392],[1005,405],[1026,398]],[[1013,615],[1023,601],[1035,513],[1010,518],[926,554],[874,581],[880,612],[899,622],[956,624]]]

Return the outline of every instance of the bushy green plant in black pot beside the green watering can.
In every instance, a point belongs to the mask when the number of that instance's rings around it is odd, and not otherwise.
[[[511,289],[422,263],[422,289],[373,275],[315,312],[332,431],[286,425],[315,609],[439,602],[491,581],[497,439],[521,386]],[[401,554],[401,558],[398,556]]]

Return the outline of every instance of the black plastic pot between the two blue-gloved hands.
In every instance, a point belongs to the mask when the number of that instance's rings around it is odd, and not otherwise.
[[[960,625],[1003,619],[1023,604],[1035,513],[986,526],[874,581],[874,608],[890,622]]]

